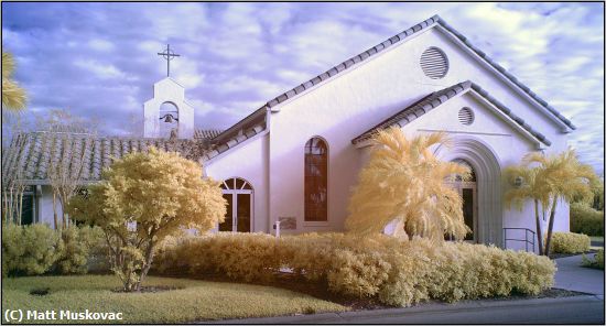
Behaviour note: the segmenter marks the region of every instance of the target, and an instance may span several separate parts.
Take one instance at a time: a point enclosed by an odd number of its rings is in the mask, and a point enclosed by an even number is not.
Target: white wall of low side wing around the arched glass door
[[[224,181],[231,177],[246,180],[253,188],[253,232],[269,232],[268,213],[268,141],[269,135],[258,134],[236,148],[205,162],[205,174]]]

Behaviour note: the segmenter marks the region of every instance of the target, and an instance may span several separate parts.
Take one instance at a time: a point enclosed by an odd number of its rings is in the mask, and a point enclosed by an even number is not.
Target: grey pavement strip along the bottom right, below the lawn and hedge
[[[218,324],[604,324],[592,296],[431,303],[409,308],[217,320]]]

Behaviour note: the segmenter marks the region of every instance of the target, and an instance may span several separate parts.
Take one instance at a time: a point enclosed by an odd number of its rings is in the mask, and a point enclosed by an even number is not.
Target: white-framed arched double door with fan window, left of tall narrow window
[[[221,184],[227,211],[219,231],[250,232],[252,225],[252,186],[244,178],[232,177]]]

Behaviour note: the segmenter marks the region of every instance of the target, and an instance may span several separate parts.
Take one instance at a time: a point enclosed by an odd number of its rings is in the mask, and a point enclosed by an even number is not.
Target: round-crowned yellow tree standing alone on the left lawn
[[[68,206],[75,218],[105,231],[112,270],[127,292],[140,290],[166,236],[207,231],[223,221],[225,207],[219,183],[203,177],[198,163],[154,148],[117,160],[101,183]]]

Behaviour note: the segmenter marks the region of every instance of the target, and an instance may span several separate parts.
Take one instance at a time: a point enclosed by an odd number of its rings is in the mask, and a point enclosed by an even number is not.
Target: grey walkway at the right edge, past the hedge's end
[[[581,267],[583,256],[572,256],[555,260],[555,285],[553,287],[578,291],[604,298],[604,271]],[[593,254],[587,254],[593,258]]]

